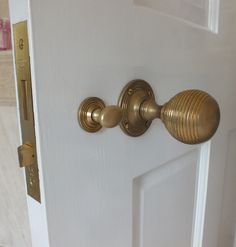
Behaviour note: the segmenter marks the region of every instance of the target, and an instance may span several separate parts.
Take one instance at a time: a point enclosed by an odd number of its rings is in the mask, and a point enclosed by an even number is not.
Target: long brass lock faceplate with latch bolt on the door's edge
[[[23,142],[23,145],[18,148],[19,160],[20,166],[25,167],[28,195],[38,202],[41,202],[27,21],[14,24],[13,33],[21,134]]]

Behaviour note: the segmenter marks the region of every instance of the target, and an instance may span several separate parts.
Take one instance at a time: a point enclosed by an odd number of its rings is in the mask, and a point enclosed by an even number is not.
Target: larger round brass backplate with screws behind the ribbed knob
[[[144,120],[140,115],[140,108],[144,101],[155,100],[151,86],[143,80],[133,80],[122,90],[119,97],[119,107],[123,111],[120,123],[125,134],[133,137],[144,134],[152,121]]]

